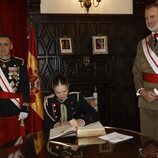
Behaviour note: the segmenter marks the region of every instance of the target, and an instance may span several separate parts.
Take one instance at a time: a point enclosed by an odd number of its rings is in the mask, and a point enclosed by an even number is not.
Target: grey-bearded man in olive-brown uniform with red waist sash
[[[138,43],[133,74],[141,132],[158,141],[158,3],[146,7],[145,22],[151,34]]]

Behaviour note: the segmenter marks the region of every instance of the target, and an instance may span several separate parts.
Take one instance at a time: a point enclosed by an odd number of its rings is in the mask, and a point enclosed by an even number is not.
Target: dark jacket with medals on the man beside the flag
[[[29,103],[29,79],[24,60],[18,57],[10,57],[4,61],[0,59],[0,67],[14,92],[22,93],[23,102]],[[1,87],[0,91],[3,92]],[[20,111],[10,99],[4,99],[0,96],[0,117],[18,115]]]

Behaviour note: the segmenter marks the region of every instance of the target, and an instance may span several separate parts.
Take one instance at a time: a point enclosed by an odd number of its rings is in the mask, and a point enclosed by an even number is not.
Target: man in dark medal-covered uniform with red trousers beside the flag
[[[29,112],[27,69],[23,59],[11,56],[12,48],[11,38],[0,35],[0,144],[22,134]]]

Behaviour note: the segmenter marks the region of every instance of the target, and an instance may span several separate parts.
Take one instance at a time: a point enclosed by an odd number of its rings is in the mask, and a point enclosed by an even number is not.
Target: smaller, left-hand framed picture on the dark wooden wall
[[[69,37],[59,38],[60,43],[60,54],[72,54],[72,42]]]

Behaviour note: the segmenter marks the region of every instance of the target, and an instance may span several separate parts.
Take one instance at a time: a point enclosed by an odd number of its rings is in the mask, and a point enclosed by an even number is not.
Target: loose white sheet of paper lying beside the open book
[[[117,133],[117,132],[112,132],[109,134],[106,134],[104,136],[100,136],[99,138],[103,139],[103,140],[107,140],[111,143],[118,143],[118,142],[122,142],[128,139],[133,138],[133,136],[129,136],[129,135],[125,135],[125,134],[121,134],[121,133]]]

